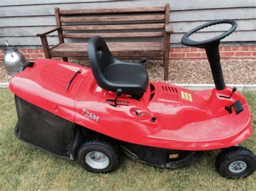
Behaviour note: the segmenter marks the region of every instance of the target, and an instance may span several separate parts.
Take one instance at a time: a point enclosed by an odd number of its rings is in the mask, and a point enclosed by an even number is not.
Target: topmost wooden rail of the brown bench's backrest
[[[60,15],[90,15],[104,13],[129,13],[129,12],[164,12],[163,6],[149,8],[123,8],[123,9],[75,9],[75,10],[59,10]]]

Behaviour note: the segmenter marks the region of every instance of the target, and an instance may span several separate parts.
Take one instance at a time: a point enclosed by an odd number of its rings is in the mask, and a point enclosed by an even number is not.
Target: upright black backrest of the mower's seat
[[[91,37],[88,42],[88,55],[95,80],[100,87],[106,87],[107,81],[104,77],[104,71],[116,59],[110,53],[105,40],[99,36]]]

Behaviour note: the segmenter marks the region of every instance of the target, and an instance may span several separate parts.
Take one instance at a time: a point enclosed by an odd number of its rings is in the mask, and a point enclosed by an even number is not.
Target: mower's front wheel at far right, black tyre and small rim
[[[217,171],[227,179],[240,179],[254,173],[256,158],[252,151],[242,146],[233,146],[221,151],[215,161]]]

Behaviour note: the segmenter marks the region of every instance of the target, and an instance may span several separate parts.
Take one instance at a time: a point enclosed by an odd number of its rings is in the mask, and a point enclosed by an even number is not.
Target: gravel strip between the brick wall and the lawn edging
[[[125,60],[136,61],[136,60]],[[89,66],[89,61],[75,61],[83,66]],[[149,72],[150,80],[164,81],[163,61],[148,60],[144,66]],[[224,79],[227,84],[255,84],[256,60],[222,60]],[[3,63],[0,65],[0,82],[8,82]],[[171,83],[213,83],[210,65],[206,60],[186,61],[171,60],[169,66],[169,81]]]

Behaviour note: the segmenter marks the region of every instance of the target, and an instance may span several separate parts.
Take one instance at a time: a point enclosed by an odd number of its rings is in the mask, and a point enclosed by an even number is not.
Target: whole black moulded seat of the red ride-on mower
[[[110,53],[103,38],[91,37],[88,43],[88,54],[93,76],[99,87],[123,93],[142,96],[149,84],[146,68],[140,63],[117,60]]]

